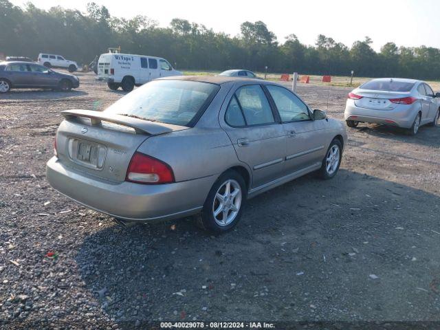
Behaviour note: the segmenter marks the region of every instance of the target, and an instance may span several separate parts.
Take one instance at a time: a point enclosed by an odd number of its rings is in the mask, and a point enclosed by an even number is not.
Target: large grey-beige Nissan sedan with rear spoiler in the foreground
[[[245,201],[318,171],[336,175],[347,134],[276,83],[224,76],[153,80],[106,110],[67,110],[47,179],[126,221],[195,215],[214,232]]]

